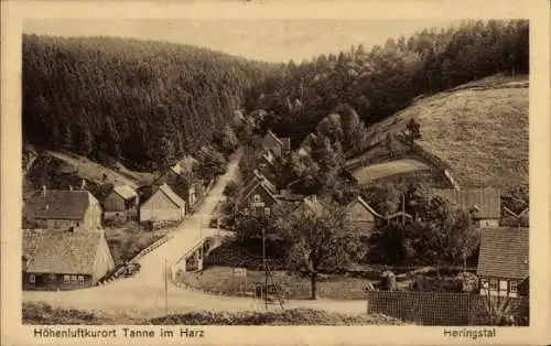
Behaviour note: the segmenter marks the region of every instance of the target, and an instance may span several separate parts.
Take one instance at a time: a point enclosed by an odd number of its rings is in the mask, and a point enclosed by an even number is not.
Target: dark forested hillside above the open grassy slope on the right
[[[382,46],[353,46],[338,55],[289,62],[287,68],[253,88],[247,109],[263,109],[263,126],[296,145],[321,119],[348,104],[374,125],[431,95],[494,74],[529,69],[528,21],[465,21],[447,30],[422,30],[389,39]],[[355,142],[346,152],[361,152]]]

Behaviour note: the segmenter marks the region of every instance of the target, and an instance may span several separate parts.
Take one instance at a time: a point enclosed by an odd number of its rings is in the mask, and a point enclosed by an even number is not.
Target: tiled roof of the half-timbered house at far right
[[[478,275],[509,279],[529,275],[528,228],[485,228],[480,233]]]

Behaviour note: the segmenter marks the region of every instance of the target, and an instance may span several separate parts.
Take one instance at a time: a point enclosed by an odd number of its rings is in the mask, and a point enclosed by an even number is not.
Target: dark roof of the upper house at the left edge
[[[29,218],[82,219],[88,207],[98,201],[86,190],[46,190],[36,192],[25,203]]]

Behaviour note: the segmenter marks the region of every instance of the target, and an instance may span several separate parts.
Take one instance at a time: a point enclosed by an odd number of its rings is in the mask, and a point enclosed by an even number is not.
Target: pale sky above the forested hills
[[[62,36],[122,36],[192,44],[267,62],[311,60],[352,45],[385,44],[423,28],[447,28],[452,20],[26,20],[24,33]]]

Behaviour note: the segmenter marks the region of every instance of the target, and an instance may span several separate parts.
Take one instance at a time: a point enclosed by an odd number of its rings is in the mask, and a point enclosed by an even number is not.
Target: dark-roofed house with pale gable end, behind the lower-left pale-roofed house
[[[101,206],[86,190],[46,190],[32,195],[23,208],[26,228],[101,228]]]

